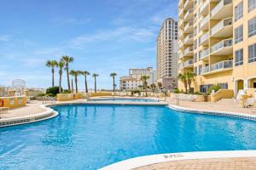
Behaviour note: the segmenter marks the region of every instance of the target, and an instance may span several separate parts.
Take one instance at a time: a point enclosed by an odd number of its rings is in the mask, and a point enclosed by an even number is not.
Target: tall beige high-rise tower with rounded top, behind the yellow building
[[[157,82],[163,88],[176,88],[177,83],[177,21],[164,21],[157,37]]]

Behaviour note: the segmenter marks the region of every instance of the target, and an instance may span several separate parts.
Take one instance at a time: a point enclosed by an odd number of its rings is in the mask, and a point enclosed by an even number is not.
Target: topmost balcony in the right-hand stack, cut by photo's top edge
[[[214,8],[212,8],[212,20],[222,20],[231,17],[233,14],[232,0],[221,0]]]

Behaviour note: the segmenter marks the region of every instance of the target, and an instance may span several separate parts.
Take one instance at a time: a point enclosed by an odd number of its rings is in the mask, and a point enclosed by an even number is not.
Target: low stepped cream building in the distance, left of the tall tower
[[[141,77],[148,76],[148,86],[156,82],[156,71],[152,67],[145,69],[129,69],[129,77],[120,77],[120,90],[137,89],[143,85]]]

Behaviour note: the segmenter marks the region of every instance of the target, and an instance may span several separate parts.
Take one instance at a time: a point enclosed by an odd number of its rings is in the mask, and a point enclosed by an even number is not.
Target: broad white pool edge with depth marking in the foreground
[[[218,159],[218,158],[238,158],[238,157],[254,157],[256,150],[224,150],[224,151],[195,151],[167,153],[152,156],[139,156],[125,161],[119,161],[102,167],[100,170],[130,170],[138,167],[144,167],[156,163],[166,161],[185,161],[198,159]]]

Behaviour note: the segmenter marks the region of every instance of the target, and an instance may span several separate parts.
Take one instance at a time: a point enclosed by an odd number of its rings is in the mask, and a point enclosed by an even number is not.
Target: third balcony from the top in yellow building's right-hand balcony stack
[[[225,39],[212,45],[212,55],[228,55],[233,53],[233,39]]]

